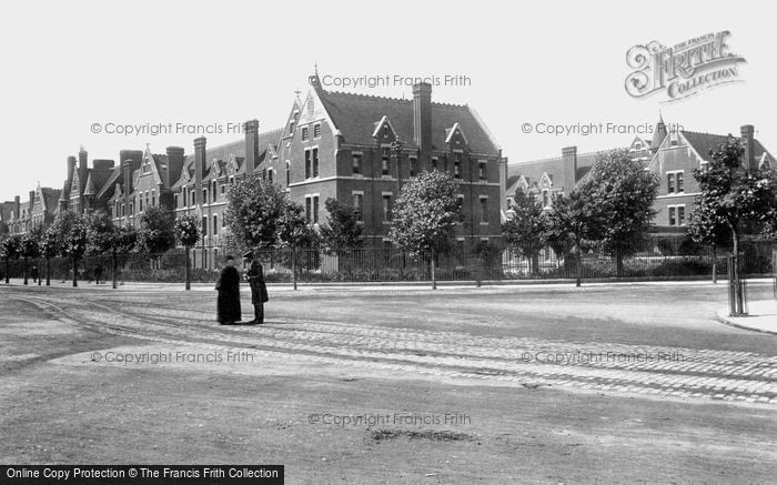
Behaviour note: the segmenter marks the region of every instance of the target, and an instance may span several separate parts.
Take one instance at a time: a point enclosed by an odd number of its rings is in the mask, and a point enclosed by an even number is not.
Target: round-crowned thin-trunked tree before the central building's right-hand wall
[[[434,170],[402,186],[392,210],[391,239],[411,256],[428,253],[432,287],[437,287],[435,257],[450,247],[458,220],[458,183]]]

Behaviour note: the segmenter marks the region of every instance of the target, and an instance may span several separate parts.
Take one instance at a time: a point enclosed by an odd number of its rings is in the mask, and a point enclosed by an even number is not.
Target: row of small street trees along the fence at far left
[[[9,263],[22,261],[24,284],[28,284],[28,264],[32,260],[46,260],[46,284],[51,284],[51,260],[65,257],[72,263],[72,282],[78,286],[79,262],[84,256],[110,255],[113,287],[121,260],[130,253],[158,255],[175,243],[194,245],[199,239],[198,221],[183,216],[173,221],[172,215],[159,208],[147,210],[138,229],[117,226],[108,213],[89,211],[78,214],[60,212],[48,226],[36,226],[24,234],[0,235],[0,256],[6,264],[6,283],[9,282]]]

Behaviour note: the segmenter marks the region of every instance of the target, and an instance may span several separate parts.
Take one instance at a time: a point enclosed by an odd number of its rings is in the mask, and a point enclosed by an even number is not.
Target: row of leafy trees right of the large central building
[[[777,181],[769,168],[746,170],[739,139],[730,138],[709,155],[709,163],[694,171],[699,194],[688,233],[695,242],[714,249],[731,246],[738,281],[743,234],[777,236]],[[657,176],[628,152],[602,152],[583,182],[554,198],[549,211],[544,211],[534,194],[518,190],[515,216],[503,231],[507,242],[529,261],[532,271],[536,271],[539,251],[549,246],[557,254],[573,256],[579,285],[581,254],[595,249],[612,255],[622,275],[623,259],[640,247],[649,233],[658,186]],[[741,300],[740,290],[738,293]]]

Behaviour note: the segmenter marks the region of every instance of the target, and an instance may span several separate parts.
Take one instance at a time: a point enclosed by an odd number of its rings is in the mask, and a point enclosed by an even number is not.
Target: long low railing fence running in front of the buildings
[[[777,251],[771,241],[745,241],[741,244],[744,275],[777,273]],[[200,254],[203,250],[198,249]],[[473,246],[454,246],[435,254],[435,276],[438,281],[482,280],[555,280],[575,279],[579,257],[579,276],[583,280],[607,277],[663,279],[679,276],[725,276],[728,249],[699,247],[683,240],[653,240],[622,257],[622,264],[609,254],[584,251],[575,254],[556,254],[549,249],[535,253],[502,244],[501,241]],[[195,253],[196,254],[196,253]],[[225,254],[212,251],[211,254]],[[212,256],[216,260],[215,256]],[[413,282],[430,281],[432,254],[411,256],[392,247],[364,247],[359,250],[299,250],[260,251],[268,282],[292,282],[294,273],[299,282]],[[198,267],[192,263],[192,282],[215,282],[223,256],[214,267]],[[183,282],[185,280],[185,253],[182,249],[164,254],[130,254],[119,257],[117,279],[123,282]],[[240,265],[240,263],[239,263]],[[774,266],[773,266],[774,265]],[[32,267],[46,279],[44,260],[28,261],[27,273]],[[113,261],[110,256],[88,256],[78,262],[81,281],[111,281]],[[72,262],[64,259],[49,261],[53,281],[72,280]],[[295,271],[292,271],[295,269]],[[0,275],[4,276],[4,264]],[[23,262],[11,261],[9,275],[21,277]],[[777,282],[776,292],[777,292]],[[777,294],[777,293],[776,293]]]

